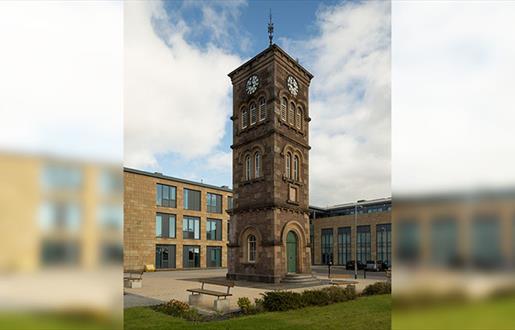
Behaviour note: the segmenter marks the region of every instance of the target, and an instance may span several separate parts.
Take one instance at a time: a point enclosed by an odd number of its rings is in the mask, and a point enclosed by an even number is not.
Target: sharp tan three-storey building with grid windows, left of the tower
[[[125,168],[124,268],[227,267],[232,191]]]

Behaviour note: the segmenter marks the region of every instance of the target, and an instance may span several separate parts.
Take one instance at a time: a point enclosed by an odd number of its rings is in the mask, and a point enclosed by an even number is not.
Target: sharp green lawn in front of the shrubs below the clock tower
[[[261,313],[223,321],[193,323],[148,307],[125,310],[124,329],[390,329],[391,296],[361,297],[323,307]]]

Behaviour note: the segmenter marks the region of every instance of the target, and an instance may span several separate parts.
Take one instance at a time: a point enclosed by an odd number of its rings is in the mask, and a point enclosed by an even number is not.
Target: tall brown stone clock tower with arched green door
[[[234,205],[227,277],[273,283],[308,278],[313,75],[271,43],[229,77]]]

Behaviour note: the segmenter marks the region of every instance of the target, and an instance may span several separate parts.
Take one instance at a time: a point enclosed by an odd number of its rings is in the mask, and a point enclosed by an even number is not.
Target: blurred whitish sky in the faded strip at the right
[[[515,184],[515,3],[393,5],[395,193]]]

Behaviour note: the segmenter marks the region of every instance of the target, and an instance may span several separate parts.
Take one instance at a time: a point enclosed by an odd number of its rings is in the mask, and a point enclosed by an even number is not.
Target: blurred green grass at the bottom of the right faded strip
[[[515,297],[407,310],[394,308],[392,329],[515,329]]]

